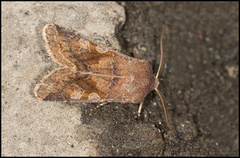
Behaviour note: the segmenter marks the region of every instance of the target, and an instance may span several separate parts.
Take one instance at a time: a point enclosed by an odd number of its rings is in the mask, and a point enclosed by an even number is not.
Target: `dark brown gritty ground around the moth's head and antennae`
[[[82,106],[82,120],[92,131],[88,139],[99,142],[99,155],[238,156],[238,2],[118,3],[126,11],[116,30],[121,53],[149,61],[154,74],[164,26],[158,88],[176,137],[154,91],[140,118],[136,104],[108,103],[91,113],[96,105],[89,104]]]

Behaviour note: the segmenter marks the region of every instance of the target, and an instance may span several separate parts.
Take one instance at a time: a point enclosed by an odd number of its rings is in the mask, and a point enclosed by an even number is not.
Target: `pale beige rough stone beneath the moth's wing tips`
[[[124,21],[124,9],[115,2],[2,2],[3,156],[98,155],[96,138],[83,139],[89,129],[80,121],[81,104],[44,102],[33,94],[36,83],[58,66],[46,53],[42,28],[56,23],[118,43],[114,33]]]

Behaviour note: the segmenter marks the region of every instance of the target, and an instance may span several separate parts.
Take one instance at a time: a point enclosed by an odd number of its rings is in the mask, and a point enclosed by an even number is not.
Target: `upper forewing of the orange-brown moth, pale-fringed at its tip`
[[[88,65],[98,64],[101,58],[114,57],[107,47],[54,24],[44,27],[43,38],[55,62],[78,71],[88,70]]]

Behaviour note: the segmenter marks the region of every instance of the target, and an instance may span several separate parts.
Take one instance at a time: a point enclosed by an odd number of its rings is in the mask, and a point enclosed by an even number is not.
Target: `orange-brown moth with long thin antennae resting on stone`
[[[50,101],[140,103],[140,116],[144,98],[155,90],[171,130],[164,97],[157,89],[163,61],[162,35],[161,60],[155,76],[146,60],[129,57],[83,35],[47,24],[43,28],[46,50],[61,67],[43,77],[34,94],[40,100]]]

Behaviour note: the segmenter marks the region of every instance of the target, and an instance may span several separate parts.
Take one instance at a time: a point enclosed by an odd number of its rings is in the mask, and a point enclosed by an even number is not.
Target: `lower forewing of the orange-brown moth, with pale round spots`
[[[34,93],[40,100],[105,101],[107,93],[97,88],[96,84],[90,75],[58,68],[42,79]]]

